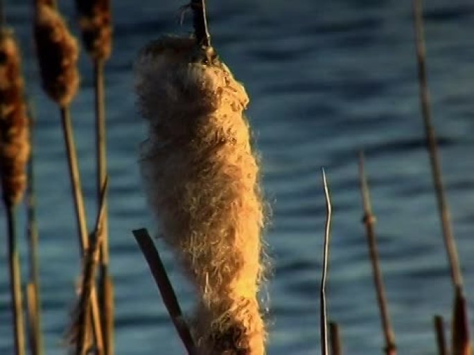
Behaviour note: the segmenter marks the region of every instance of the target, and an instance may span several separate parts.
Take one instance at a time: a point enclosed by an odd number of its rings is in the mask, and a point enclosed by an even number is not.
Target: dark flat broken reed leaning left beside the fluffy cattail
[[[179,303],[175,295],[175,291],[173,291],[173,286],[171,286],[171,282],[168,279],[168,275],[166,274],[166,270],[163,263],[161,262],[161,257],[159,256],[155,244],[148,234],[148,231],[144,228],[133,230],[133,235],[135,239],[137,239],[137,243],[140,246],[141,252],[145,257],[146,262],[148,262],[148,266],[150,267],[150,271],[158,286],[161,298],[163,299],[170,318],[173,321],[173,325],[175,325],[175,329],[179,335],[179,338],[181,338],[183,345],[186,347],[189,355],[196,354],[191,331],[184,320],[181,307],[179,307]]]

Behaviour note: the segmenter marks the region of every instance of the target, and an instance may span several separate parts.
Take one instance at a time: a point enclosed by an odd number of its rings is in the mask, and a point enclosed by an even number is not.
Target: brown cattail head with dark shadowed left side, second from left
[[[43,88],[60,106],[67,106],[78,91],[79,48],[64,19],[47,3],[37,3],[35,40]]]

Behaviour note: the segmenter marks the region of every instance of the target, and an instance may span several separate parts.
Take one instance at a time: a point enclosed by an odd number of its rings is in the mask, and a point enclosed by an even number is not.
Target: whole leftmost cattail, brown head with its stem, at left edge
[[[15,212],[26,187],[25,167],[30,153],[29,127],[24,103],[21,55],[12,32],[3,27],[0,28],[0,57],[0,177],[8,225],[12,327],[15,355],[24,355],[24,309]]]

